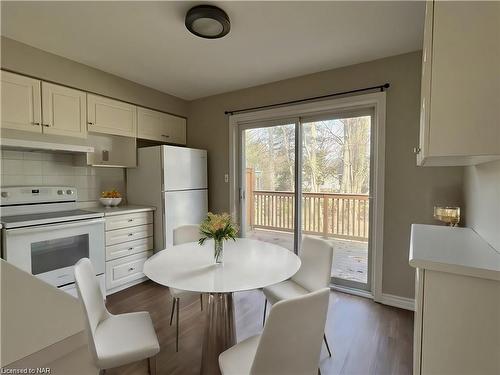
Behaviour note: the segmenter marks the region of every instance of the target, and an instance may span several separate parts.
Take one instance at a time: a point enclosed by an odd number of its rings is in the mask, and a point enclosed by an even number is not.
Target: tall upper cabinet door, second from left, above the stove
[[[42,125],[46,134],[87,136],[87,95],[83,91],[42,82]]]

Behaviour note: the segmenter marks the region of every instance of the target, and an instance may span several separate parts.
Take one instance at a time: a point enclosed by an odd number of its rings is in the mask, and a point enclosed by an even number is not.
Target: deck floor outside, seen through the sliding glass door
[[[255,229],[249,238],[271,242],[293,251],[293,234]],[[322,238],[322,237],[320,237]],[[329,238],[333,247],[332,277],[366,283],[368,280],[368,242]]]

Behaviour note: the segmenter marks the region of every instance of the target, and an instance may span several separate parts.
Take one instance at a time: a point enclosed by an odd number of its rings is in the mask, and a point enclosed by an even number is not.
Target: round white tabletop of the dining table
[[[300,258],[284,247],[237,238],[224,244],[224,263],[214,264],[214,242],[189,242],[162,250],[144,263],[154,282],[202,293],[258,289],[293,276]]]

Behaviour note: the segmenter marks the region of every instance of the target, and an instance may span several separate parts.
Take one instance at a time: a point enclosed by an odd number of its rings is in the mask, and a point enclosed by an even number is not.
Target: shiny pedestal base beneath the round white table
[[[210,293],[201,357],[201,374],[220,374],[219,354],[236,343],[232,293]]]

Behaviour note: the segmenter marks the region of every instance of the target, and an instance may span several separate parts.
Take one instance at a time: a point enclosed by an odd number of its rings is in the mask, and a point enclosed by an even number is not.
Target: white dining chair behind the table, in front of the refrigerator
[[[187,242],[197,242],[200,235],[199,225],[182,225],[174,229],[174,246],[181,245]],[[200,306],[203,311],[203,294],[198,292],[191,292],[187,290],[181,290],[176,288],[169,288],[170,295],[172,296],[172,311],[170,312],[170,325],[172,325],[172,320],[174,318],[175,310],[175,351],[179,351],[179,304],[181,297],[189,297],[199,294],[200,295]]]

